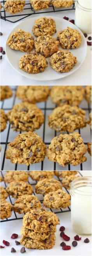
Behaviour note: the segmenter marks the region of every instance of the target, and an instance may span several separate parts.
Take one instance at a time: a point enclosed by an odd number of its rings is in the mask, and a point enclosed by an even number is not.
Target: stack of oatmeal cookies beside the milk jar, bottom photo
[[[55,213],[43,207],[32,209],[23,217],[20,243],[29,249],[51,249],[55,245],[58,224],[59,219]]]

